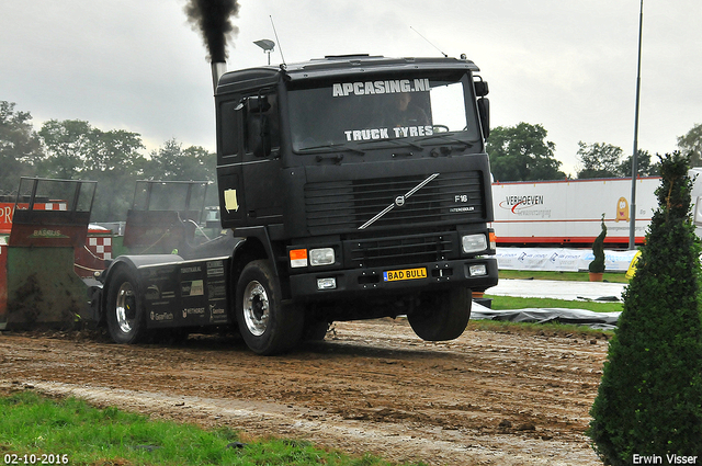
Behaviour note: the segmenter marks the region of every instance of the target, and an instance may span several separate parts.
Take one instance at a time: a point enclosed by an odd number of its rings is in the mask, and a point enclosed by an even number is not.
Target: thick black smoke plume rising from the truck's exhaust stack
[[[185,5],[188,20],[202,32],[210,61],[227,59],[227,39],[239,32],[230,18],[238,13],[237,0],[190,0]]]

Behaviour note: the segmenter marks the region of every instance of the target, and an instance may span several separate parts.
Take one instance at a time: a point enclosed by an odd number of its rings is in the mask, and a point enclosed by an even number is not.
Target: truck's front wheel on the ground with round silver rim
[[[304,311],[283,303],[270,261],[258,260],[244,268],[235,299],[239,332],[251,351],[268,356],[290,351],[299,343]]]

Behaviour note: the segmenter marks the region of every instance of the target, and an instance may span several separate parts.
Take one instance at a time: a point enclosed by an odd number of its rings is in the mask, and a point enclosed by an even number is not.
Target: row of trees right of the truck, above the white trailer
[[[490,129],[487,154],[496,181],[558,180],[568,175],[561,171],[561,161],[554,157],[556,145],[546,139],[542,125],[519,123]],[[678,149],[691,156],[692,166],[702,164],[702,124],[695,125],[684,136],[678,137]],[[637,174],[657,175],[659,163],[652,160],[647,150],[637,151]],[[580,162],[576,177],[620,178],[632,175],[632,156],[624,157],[621,147],[607,143],[578,143]]]

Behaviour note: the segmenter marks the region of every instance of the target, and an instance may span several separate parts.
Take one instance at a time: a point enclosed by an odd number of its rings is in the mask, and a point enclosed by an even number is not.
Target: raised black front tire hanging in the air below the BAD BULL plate
[[[407,316],[417,337],[427,341],[454,340],[471,319],[472,293],[468,288],[453,288],[427,293],[418,309]]]

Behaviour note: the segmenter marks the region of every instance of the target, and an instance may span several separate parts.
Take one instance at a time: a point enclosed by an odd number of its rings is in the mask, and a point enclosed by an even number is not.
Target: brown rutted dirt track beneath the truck
[[[607,340],[472,330],[427,343],[404,320],[335,325],[279,357],[224,338],[125,346],[0,337],[0,386],[446,465],[600,465],[584,431]]]

